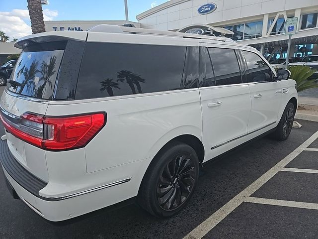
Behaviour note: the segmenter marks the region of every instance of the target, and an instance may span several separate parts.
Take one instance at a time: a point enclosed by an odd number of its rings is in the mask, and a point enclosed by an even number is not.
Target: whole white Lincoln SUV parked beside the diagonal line
[[[62,221],[135,198],[180,211],[199,164],[258,136],[285,140],[294,80],[231,39],[101,25],[23,37],[1,97],[8,187]]]

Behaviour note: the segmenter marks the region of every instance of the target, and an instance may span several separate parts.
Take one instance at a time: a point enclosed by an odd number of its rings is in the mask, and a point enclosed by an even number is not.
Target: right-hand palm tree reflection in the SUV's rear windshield
[[[40,81],[43,81],[42,85],[39,86],[37,89],[36,96],[42,98],[45,90],[46,90],[46,85],[49,84],[49,86],[52,88],[52,82],[50,78],[54,75],[56,72],[55,69],[55,64],[56,64],[56,56],[51,56],[50,57],[50,62],[49,64],[46,63],[45,61],[42,61],[41,64],[41,70],[40,73],[42,77],[40,78]],[[43,91],[44,90],[44,91]]]

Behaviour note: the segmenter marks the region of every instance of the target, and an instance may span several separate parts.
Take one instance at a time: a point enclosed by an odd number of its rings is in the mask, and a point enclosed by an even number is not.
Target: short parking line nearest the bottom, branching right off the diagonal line
[[[245,199],[244,202],[268,204],[268,205],[292,207],[292,208],[306,208],[306,209],[318,210],[318,204],[317,203],[304,203],[304,202],[277,200],[277,199],[269,199],[269,198],[254,198],[254,197],[248,197],[248,198]]]

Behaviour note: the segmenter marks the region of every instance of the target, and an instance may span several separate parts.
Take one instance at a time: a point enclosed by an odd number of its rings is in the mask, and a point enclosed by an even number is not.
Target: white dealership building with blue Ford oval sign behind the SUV
[[[265,57],[286,57],[285,21],[297,17],[291,57],[318,54],[318,0],[169,0],[136,16],[136,27],[231,37]],[[46,31],[87,30],[125,21],[45,21]]]

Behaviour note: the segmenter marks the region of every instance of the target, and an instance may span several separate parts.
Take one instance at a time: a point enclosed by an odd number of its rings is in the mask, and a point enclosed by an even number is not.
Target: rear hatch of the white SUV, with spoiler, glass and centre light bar
[[[49,101],[56,99],[56,95],[72,100],[69,86],[76,85],[78,70],[74,70],[73,76],[68,73],[72,71],[69,67],[75,63],[79,68],[80,59],[74,62],[71,59],[81,57],[87,35],[86,32],[51,34],[35,34],[15,44],[23,51],[0,101],[10,152],[25,169],[45,182],[49,181],[49,175],[45,150],[39,144],[39,138],[45,137],[41,117],[45,116]],[[63,69],[62,65],[65,65]],[[67,74],[69,81],[61,81]]]

